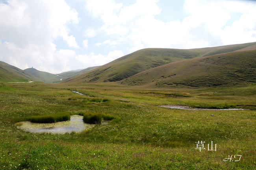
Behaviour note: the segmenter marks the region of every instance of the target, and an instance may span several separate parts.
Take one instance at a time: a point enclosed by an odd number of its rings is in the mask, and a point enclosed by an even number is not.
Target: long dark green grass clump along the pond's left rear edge
[[[60,115],[42,115],[32,116],[29,118],[32,123],[55,123],[70,120],[69,113],[63,113]]]

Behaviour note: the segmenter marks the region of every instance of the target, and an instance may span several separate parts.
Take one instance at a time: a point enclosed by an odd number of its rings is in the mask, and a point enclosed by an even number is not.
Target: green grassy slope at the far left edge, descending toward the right
[[[28,82],[40,81],[40,79],[32,76],[17,67],[0,61],[0,82]]]

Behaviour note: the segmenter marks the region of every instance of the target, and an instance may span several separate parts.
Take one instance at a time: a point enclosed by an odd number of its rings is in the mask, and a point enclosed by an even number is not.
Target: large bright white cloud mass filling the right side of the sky
[[[90,31],[111,36],[106,41],[128,42],[130,52],[141,48],[201,48],[256,41],[255,3],[230,0],[186,0],[184,11],[190,16],[182,21],[168,23],[155,19],[161,12],[158,0],[137,0],[131,6],[122,6],[108,0],[103,9],[95,0],[86,0],[87,10],[100,18],[103,25]],[[232,26],[226,26],[232,12],[244,15]],[[224,29],[223,29],[224,28]]]

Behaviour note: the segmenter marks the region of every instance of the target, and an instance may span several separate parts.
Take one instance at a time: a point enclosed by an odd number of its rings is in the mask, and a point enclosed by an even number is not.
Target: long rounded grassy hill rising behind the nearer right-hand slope
[[[116,59],[115,61],[98,67],[97,69],[86,72],[74,78],[70,78],[66,82],[95,83],[121,81],[150,68],[158,67],[175,61],[233,52],[255,44],[256,42],[190,50],[147,48],[125,55],[119,59]]]

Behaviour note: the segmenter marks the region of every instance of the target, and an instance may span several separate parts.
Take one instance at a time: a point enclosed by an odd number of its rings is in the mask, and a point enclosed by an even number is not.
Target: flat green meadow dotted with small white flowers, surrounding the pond
[[[1,83],[0,169],[256,169],[255,87],[253,83],[171,89],[114,83]],[[159,105],[248,110],[185,110]],[[63,113],[99,113],[106,118],[80,133],[19,129],[19,122],[32,116]],[[199,147],[198,141],[204,146]]]

